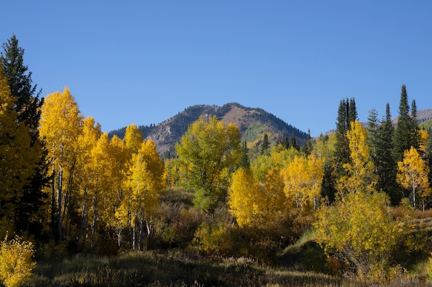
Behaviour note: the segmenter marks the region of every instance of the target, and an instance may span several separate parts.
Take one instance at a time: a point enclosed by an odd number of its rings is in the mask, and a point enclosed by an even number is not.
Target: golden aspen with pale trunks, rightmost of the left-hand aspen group
[[[130,191],[129,198],[124,198],[121,204],[127,204],[126,214],[130,216],[132,227],[132,248],[137,246],[140,249],[144,228],[147,237],[152,234],[153,215],[159,206],[159,191],[165,187],[164,164],[153,141],[146,140],[138,153],[133,154],[126,184]]]

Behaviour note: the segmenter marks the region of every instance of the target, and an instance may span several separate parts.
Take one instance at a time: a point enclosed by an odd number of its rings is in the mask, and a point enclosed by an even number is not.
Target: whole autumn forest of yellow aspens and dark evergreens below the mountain
[[[42,97],[23,54],[3,43],[0,286],[431,284],[432,131],[405,85],[396,125],[355,98],[302,145],[202,116],[164,158]]]

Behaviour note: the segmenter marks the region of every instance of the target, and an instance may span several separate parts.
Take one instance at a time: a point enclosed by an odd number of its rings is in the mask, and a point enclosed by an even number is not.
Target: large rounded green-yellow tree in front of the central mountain
[[[238,127],[216,116],[190,125],[175,146],[188,189],[195,191],[195,206],[213,213],[226,195],[230,173],[239,166],[242,147]]]

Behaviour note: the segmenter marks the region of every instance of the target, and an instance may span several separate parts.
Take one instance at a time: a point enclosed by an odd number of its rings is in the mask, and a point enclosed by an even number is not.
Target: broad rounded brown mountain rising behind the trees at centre
[[[238,103],[227,103],[222,107],[216,105],[193,105],[179,112],[177,115],[164,120],[158,125],[139,126],[144,138],[153,140],[157,146],[157,151],[164,153],[173,152],[175,143],[179,142],[189,125],[198,120],[199,116],[217,116],[226,125],[233,123],[239,127],[242,139],[247,142],[259,143],[264,132],[271,134],[271,140],[275,141],[280,138],[291,138],[294,134],[300,143],[304,142],[307,134],[273,114],[260,108],[244,107]],[[110,131],[109,135],[117,135],[123,138],[126,127]]]

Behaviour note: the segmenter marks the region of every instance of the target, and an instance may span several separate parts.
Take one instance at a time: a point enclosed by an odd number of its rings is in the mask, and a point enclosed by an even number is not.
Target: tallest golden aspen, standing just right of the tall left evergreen
[[[41,108],[39,133],[46,142],[51,165],[51,223],[57,224],[59,240],[63,237],[63,225],[67,226],[70,219],[70,199],[82,120],[78,104],[67,87],[63,92],[46,96]]]

